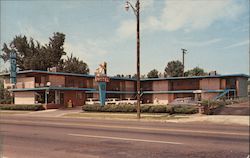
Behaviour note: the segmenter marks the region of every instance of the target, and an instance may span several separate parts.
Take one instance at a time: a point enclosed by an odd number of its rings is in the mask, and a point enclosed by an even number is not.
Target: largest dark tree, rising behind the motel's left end
[[[4,43],[0,55],[5,62],[9,60],[11,48],[13,45],[17,53],[17,67],[19,70],[47,70],[47,68],[57,66],[64,52],[63,44],[65,35],[63,33],[54,33],[49,38],[49,44],[42,46],[40,42],[33,38],[27,39],[26,36],[15,36],[9,46]]]

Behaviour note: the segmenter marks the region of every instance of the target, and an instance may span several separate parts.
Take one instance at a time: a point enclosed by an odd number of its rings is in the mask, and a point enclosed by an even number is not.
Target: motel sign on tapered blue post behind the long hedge
[[[107,76],[107,63],[104,62],[103,64],[99,65],[99,68],[96,69],[95,73],[95,81],[98,82],[99,88],[99,100],[100,105],[105,105],[106,100],[106,85],[109,82],[109,77]]]

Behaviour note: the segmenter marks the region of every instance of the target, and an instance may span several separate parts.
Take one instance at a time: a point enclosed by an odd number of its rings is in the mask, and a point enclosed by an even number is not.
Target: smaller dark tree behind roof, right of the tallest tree
[[[59,64],[59,71],[89,74],[89,67],[85,62],[79,60],[79,58],[73,57],[73,55],[71,54],[71,56],[67,57],[66,60],[61,61],[61,63]]]

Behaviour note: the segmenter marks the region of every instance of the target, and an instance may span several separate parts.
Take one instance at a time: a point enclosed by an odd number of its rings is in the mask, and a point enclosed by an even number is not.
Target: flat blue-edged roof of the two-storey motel
[[[79,77],[89,77],[94,78],[95,75],[87,75],[87,74],[78,74],[78,73],[65,73],[65,72],[50,72],[50,71],[42,71],[42,70],[25,70],[25,71],[18,71],[17,74],[27,74],[27,73],[34,73],[34,74],[51,74],[51,75],[64,75],[64,76],[79,76]],[[0,76],[7,76],[9,73],[0,74]],[[141,79],[141,81],[162,81],[162,80],[181,80],[181,79],[201,79],[201,78],[223,78],[223,77],[245,77],[249,78],[249,75],[246,74],[226,74],[226,75],[212,75],[212,76],[190,76],[190,77],[167,77],[167,78],[146,78]],[[135,78],[128,78],[128,77],[112,77],[111,79],[114,80],[129,80],[129,81],[136,81]]]

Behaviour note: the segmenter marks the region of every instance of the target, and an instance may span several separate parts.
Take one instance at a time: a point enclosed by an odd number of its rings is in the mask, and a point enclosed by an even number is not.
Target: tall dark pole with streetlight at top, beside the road
[[[140,96],[141,96],[141,84],[140,84],[140,2],[139,0],[136,1],[135,7],[127,1],[125,4],[125,9],[128,11],[129,7],[131,7],[134,11],[137,20],[137,118],[141,118],[141,105],[140,105]]]

